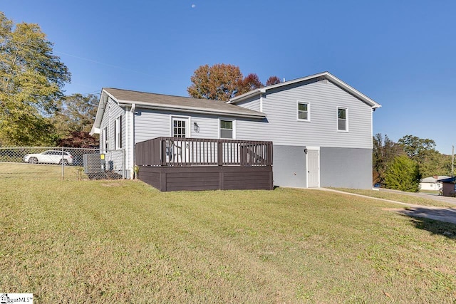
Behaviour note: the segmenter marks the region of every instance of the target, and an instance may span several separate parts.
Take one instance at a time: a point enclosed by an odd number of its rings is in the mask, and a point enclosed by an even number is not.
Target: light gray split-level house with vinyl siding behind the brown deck
[[[228,103],[103,88],[91,134],[100,134],[101,150],[125,150],[125,160],[111,160],[111,169],[125,165],[130,176],[139,142],[229,139],[272,142],[276,186],[371,189],[376,108],[328,72],[252,90]]]

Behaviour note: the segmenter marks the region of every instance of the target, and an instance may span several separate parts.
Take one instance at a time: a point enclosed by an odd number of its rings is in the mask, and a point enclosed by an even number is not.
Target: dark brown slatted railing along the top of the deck
[[[272,142],[157,137],[135,145],[138,166],[271,166]]]

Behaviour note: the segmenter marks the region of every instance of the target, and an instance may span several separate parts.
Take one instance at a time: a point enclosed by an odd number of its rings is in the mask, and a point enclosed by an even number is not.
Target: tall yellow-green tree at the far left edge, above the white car
[[[37,24],[19,23],[0,12],[0,141],[3,145],[49,142],[49,115],[71,74]]]

